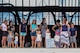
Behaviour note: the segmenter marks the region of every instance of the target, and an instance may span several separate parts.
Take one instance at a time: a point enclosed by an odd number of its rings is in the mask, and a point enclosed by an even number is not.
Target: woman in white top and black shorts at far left
[[[4,21],[4,23],[2,23],[1,25],[2,27],[2,47],[5,48],[6,47],[6,41],[7,41],[7,20]]]

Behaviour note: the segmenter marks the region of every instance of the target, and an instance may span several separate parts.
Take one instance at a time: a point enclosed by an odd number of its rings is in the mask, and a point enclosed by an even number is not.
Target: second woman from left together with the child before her
[[[9,45],[12,45],[12,47],[14,47],[14,32],[15,32],[15,27],[13,26],[12,21],[10,21],[8,26],[8,47]]]

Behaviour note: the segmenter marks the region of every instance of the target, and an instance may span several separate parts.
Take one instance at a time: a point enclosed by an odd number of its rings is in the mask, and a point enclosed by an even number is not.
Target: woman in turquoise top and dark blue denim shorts
[[[32,21],[32,25],[30,26],[30,30],[31,30],[31,40],[32,40],[32,48],[36,47],[36,29],[37,29],[37,25],[36,25],[36,20]]]

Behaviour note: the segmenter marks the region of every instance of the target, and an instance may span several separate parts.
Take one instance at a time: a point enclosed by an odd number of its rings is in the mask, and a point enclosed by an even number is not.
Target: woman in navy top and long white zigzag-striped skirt
[[[61,26],[61,46],[68,47],[69,46],[69,25],[67,23],[67,19],[63,19],[63,24]]]

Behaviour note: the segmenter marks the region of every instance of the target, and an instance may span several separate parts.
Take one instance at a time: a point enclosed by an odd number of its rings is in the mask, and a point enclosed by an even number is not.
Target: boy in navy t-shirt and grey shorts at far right
[[[74,27],[74,24],[71,24],[71,28],[70,28],[70,42],[71,42],[71,47],[72,48],[77,48],[77,43],[76,43],[76,37],[77,37],[77,30]],[[75,46],[73,46],[75,44]]]

